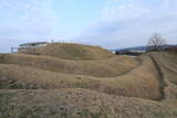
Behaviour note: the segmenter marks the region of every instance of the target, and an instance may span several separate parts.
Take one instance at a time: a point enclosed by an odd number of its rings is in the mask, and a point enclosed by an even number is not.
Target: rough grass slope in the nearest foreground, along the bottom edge
[[[0,116],[15,118],[176,118],[168,105],[87,89],[0,90]]]

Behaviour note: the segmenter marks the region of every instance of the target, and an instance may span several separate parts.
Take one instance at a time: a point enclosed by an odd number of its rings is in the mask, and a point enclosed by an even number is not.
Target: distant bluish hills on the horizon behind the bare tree
[[[167,49],[167,47],[173,47],[173,46],[177,46],[177,45],[163,45],[162,49]],[[136,47],[126,47],[126,49],[116,49],[116,50],[112,50],[112,51],[147,51],[148,46],[136,46]]]

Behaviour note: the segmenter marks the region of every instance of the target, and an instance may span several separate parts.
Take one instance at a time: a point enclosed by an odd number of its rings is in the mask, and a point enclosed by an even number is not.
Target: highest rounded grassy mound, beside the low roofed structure
[[[72,43],[52,43],[40,49],[38,54],[64,60],[102,60],[114,56],[101,47]]]

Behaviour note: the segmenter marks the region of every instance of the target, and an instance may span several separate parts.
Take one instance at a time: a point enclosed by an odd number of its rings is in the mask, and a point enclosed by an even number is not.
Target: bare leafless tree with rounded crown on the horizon
[[[163,45],[166,45],[166,40],[158,33],[154,33],[152,37],[148,41],[148,51],[157,51],[163,47]]]

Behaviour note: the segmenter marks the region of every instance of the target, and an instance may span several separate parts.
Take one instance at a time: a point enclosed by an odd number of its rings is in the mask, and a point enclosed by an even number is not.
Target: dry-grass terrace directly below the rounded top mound
[[[136,67],[140,63],[138,58],[127,56],[115,56],[101,61],[70,61],[28,54],[0,54],[0,62],[64,74],[79,74],[97,77],[117,76]]]

